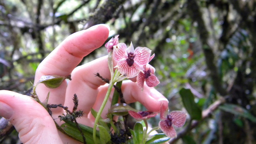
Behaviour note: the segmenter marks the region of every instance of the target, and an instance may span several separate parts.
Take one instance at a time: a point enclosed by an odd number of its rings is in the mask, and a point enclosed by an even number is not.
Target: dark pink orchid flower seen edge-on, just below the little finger
[[[155,117],[158,113],[153,113],[151,111],[128,111],[128,113],[131,115],[131,117],[135,118],[137,121],[149,119],[152,117]]]

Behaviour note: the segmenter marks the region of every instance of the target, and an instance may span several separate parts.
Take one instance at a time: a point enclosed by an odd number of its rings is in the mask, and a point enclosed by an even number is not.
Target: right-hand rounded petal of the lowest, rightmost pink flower
[[[173,119],[171,122],[176,127],[182,127],[186,122],[186,113],[183,111],[171,111],[171,118]]]

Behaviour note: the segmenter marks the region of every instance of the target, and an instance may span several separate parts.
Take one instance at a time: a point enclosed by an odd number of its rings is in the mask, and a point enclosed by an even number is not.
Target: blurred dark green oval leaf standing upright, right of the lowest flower
[[[182,88],[179,91],[181,95],[182,102],[187,112],[190,114],[191,119],[201,120],[202,119],[202,110],[194,101],[194,95],[191,93],[190,89]]]

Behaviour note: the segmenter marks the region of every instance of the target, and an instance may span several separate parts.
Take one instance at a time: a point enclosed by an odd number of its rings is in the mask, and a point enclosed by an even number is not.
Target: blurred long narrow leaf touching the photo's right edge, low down
[[[235,104],[224,104],[219,106],[219,109],[224,110],[226,112],[233,113],[235,115],[239,115],[241,117],[247,118],[252,122],[256,122],[256,117],[254,117],[248,110],[243,107]]]

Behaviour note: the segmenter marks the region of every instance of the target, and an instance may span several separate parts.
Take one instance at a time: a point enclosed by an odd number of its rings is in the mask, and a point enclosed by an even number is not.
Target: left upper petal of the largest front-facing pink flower
[[[116,46],[113,47],[113,58],[115,61],[121,61],[122,58],[128,58],[126,54],[126,44],[125,43],[118,43]]]

